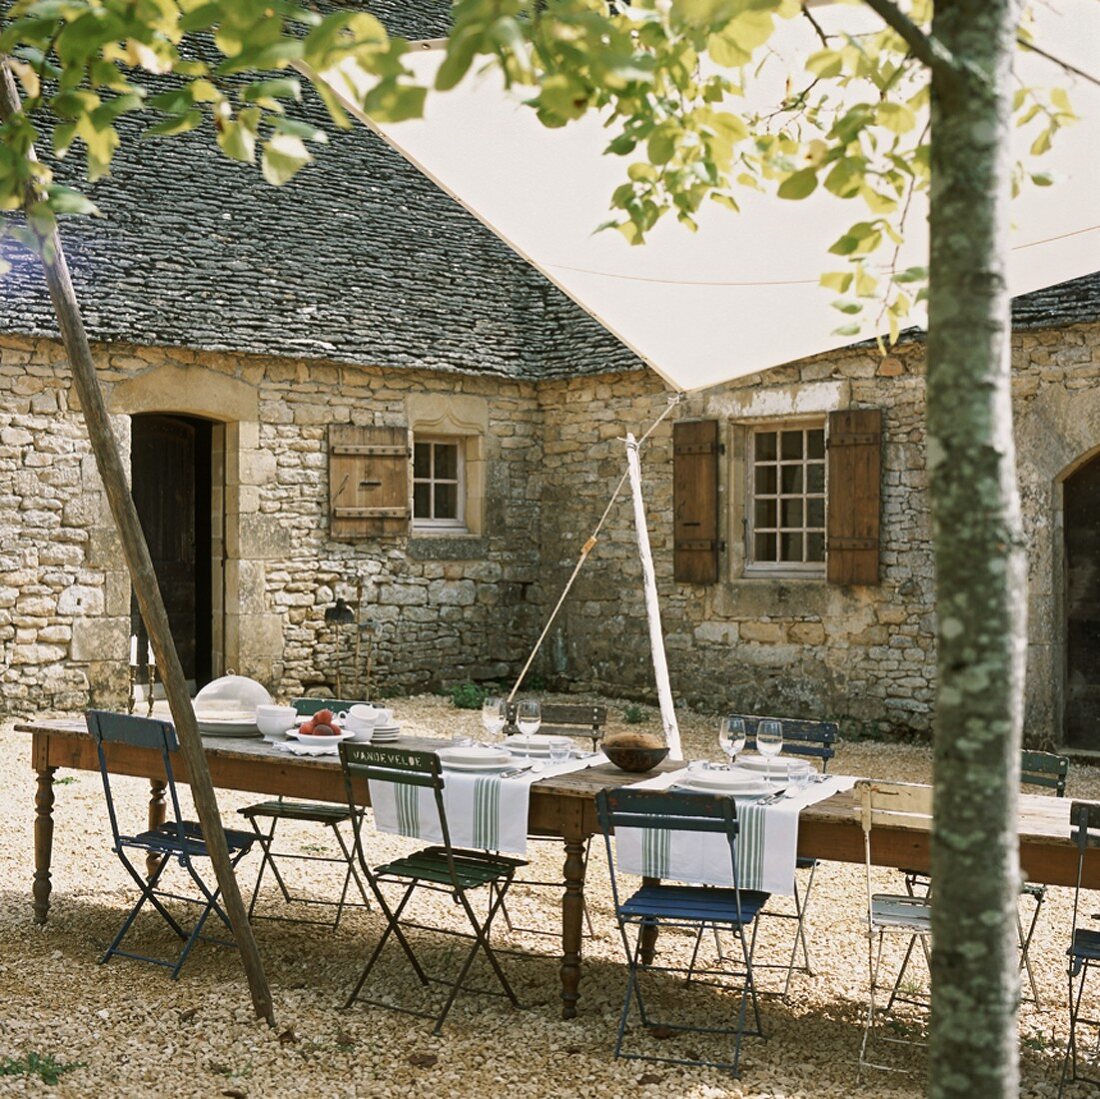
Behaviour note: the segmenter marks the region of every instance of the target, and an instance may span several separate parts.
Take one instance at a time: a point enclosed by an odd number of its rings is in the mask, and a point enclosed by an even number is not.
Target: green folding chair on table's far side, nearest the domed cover
[[[339,713],[341,711],[350,710],[352,706],[359,705],[359,703],[348,699],[295,699],[292,705],[298,712],[299,716],[311,717],[319,710],[331,710]],[[366,890],[363,887],[363,882],[355,869],[355,858],[344,839],[343,833],[340,831],[341,824],[353,820],[352,813],[346,805],[330,805],[323,802],[287,801],[284,798],[278,798],[274,801],[262,801],[256,802],[253,805],[245,805],[244,809],[239,809],[238,813],[245,817],[249,824],[252,825],[252,831],[255,833],[255,837],[260,842],[260,846],[263,850],[263,858],[260,860],[260,871],[256,875],[256,883],[252,887],[252,899],[249,901],[250,920],[278,920],[283,923],[320,924],[323,926],[331,926],[332,930],[336,931],[336,928],[340,926],[340,919],[343,915],[345,906],[371,906],[370,899],[366,895]],[[267,821],[270,823],[266,828],[262,828],[258,821]],[[302,851],[275,850],[275,828],[280,821],[323,824],[332,831],[332,837],[340,854],[316,855]],[[354,824],[352,827],[354,828]],[[293,893],[290,888],[287,886],[286,877],[283,870],[279,869],[277,861],[279,859],[283,861],[294,859],[301,862],[336,862],[343,866],[344,877],[343,884],[340,889],[340,899],[331,901],[324,898],[306,897],[300,893]],[[279,892],[283,894],[283,901],[285,904],[334,905],[334,919],[330,922],[328,920],[311,920],[302,916],[272,915],[266,913],[256,915],[256,901],[260,898],[260,889],[264,881],[264,872],[268,867],[271,867],[272,876],[275,879],[275,883],[278,886]],[[348,891],[353,881],[359,895],[362,898],[360,901],[348,900]]]

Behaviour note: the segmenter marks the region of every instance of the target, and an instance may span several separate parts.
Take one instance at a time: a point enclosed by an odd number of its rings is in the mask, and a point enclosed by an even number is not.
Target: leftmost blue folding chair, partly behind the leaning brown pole
[[[107,798],[107,812],[111,821],[111,835],[113,837],[111,849],[119,856],[119,860],[125,867],[127,873],[133,878],[134,883],[141,890],[141,897],[130,910],[130,914],[125,917],[118,934],[111,941],[111,945],[108,946],[106,953],[99,959],[100,964],[109,961],[114,955],[123,958],[133,958],[138,961],[150,961],[153,965],[165,966],[170,969],[172,977],[175,980],[179,976],[179,970],[183,968],[188,955],[191,953],[191,948],[200,938],[211,943],[219,943],[223,946],[235,945],[231,941],[212,938],[202,934],[202,927],[211,912],[216,913],[227,927],[230,924],[229,917],[218,903],[220,889],[208,887],[195,867],[197,858],[209,857],[206,840],[202,837],[202,829],[194,821],[182,820],[179,812],[179,798],[176,793],[176,780],[172,769],[172,754],[179,747],[179,741],[176,738],[176,729],[170,722],[155,721],[150,717],[134,717],[130,714],[111,714],[98,710],[88,711],[85,719],[88,723],[88,730],[96,738],[96,751],[99,755],[99,771],[103,778],[103,794]],[[174,820],[166,821],[157,828],[139,832],[135,835],[120,832],[118,815],[114,810],[114,799],[111,794],[111,774],[108,770],[107,752],[105,750],[105,745],[110,744],[130,745],[136,748],[152,748],[161,752],[161,758],[164,761],[165,782],[172,799],[172,810],[175,814]],[[237,864],[240,862],[252,847],[253,837],[246,832],[226,828],[226,843],[229,847],[230,865],[235,868]],[[158,857],[160,861],[153,872],[146,878],[128,857],[128,851],[140,851],[142,858],[139,862],[141,865],[144,864],[144,858],[150,855]],[[191,881],[198,890],[198,897],[173,893],[158,888],[162,875],[173,860],[176,860],[190,876]],[[184,930],[183,925],[164,905],[164,899],[200,905],[201,911],[199,912],[198,920],[189,932]],[[184,945],[176,958],[153,958],[144,954],[133,954],[121,949],[122,941],[133,926],[138,913],[141,912],[146,902],[160,913],[172,931],[184,941]]]

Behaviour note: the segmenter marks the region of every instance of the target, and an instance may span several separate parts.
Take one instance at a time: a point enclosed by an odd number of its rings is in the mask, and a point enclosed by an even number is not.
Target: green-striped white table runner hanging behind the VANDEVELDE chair
[[[516,766],[527,760],[517,758]],[[542,779],[606,763],[603,754],[562,763],[540,761],[541,770],[509,779],[497,774],[443,769],[443,809],[455,847],[527,854],[527,816],[531,787]],[[371,780],[374,826],[380,832],[442,843],[435,791],[427,787]]]

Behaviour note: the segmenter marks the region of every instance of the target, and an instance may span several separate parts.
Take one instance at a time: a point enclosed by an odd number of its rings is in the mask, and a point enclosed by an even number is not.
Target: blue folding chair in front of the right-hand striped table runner
[[[754,927],[760,909],[768,900],[768,893],[743,890],[737,876],[737,807],[733,798],[714,794],[667,793],[648,790],[601,790],[596,795],[596,813],[604,833],[607,848],[607,865],[610,870],[612,897],[615,902],[615,919],[623,937],[629,975],[623,1011],[619,1015],[618,1035],[615,1040],[615,1056],[637,1060],[656,1060],[673,1065],[708,1065],[728,1069],[738,1075],[741,1042],[746,1035],[763,1036],[760,1023],[760,1005],[752,981],[752,941],[748,928]],[[641,828],[646,833],[642,843],[660,839],[661,833],[684,831],[724,834],[729,845],[729,865],[733,877],[732,888],[710,886],[680,886],[642,883],[629,898],[619,895],[616,860],[612,853],[610,835],[623,828]],[[641,960],[644,932],[662,927],[685,927],[700,933],[708,926],[722,927],[736,936],[741,947],[743,968],[730,972],[725,969],[695,969],[694,953],[688,966],[654,966]],[[631,945],[627,932],[632,927],[635,941]],[[685,974],[695,976],[740,979],[737,1021],[734,1026],[690,1026],[683,1023],[659,1022],[649,1014],[642,997],[640,976],[646,974]],[[722,986],[719,986],[722,987]],[[736,986],[735,986],[736,987]],[[660,1029],[662,1032],[691,1032],[700,1034],[733,1035],[734,1049],[730,1060],[704,1060],[686,1057],[663,1057],[654,1054],[624,1053],[623,1043],[630,1018],[631,1003],[636,1003],[641,1025]],[[746,1030],[748,1008],[751,1004],[755,1027]]]

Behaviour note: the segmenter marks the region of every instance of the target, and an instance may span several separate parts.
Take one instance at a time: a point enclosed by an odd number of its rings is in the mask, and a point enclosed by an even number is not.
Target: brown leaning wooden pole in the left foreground
[[[20,110],[19,91],[7,58],[0,56],[0,120],[7,122]],[[35,198],[36,196],[33,194],[28,195],[26,205],[30,206]],[[195,721],[195,711],[187,691],[184,669],[179,663],[179,655],[176,652],[176,646],[172,639],[168,615],[164,608],[164,601],[161,598],[161,589],[156,582],[156,573],[153,571],[153,562],[138,518],[138,510],[134,507],[133,497],[130,495],[130,486],[127,483],[118,443],[111,430],[103,394],[96,376],[91,347],[88,343],[80,307],[73,289],[73,282],[69,278],[61,235],[56,229],[47,237],[40,237],[38,255],[42,259],[50,298],[57,315],[62,340],[73,371],[73,382],[80,398],[84,420],[88,428],[88,438],[91,441],[92,453],[96,455],[96,465],[107,491],[111,514],[122,540],[122,552],[127,568],[130,570],[130,580],[134,594],[138,596],[142,619],[156,653],[156,662],[161,669],[172,719],[179,737],[180,751],[187,761],[191,796],[195,801],[199,823],[202,826],[202,836],[206,839],[218,886],[221,889],[222,903],[229,915],[233,936],[244,963],[244,971],[248,975],[249,988],[252,992],[252,1004],[256,1015],[274,1025],[275,1013],[271,991],[267,987],[267,977],[264,974],[260,950],[252,934],[252,925],[249,923],[244,902],[241,900],[241,891],[230,865],[226,832],[221,823],[221,814],[218,811],[218,801],[210,781],[206,756],[202,752],[202,739]]]

